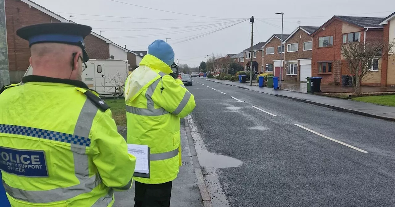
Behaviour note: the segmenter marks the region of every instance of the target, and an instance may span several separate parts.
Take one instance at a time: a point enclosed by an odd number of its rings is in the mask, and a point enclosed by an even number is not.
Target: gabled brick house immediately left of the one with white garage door
[[[275,76],[280,76],[281,65],[284,67],[285,53],[284,48],[281,50],[281,42],[287,39],[290,35],[273,34],[264,45],[262,45],[263,51],[265,52],[265,58],[263,58],[263,64],[261,71],[265,73],[272,73]],[[282,51],[282,52],[281,52]],[[280,53],[282,53],[282,62],[280,65]],[[282,74],[284,75],[284,73]],[[284,80],[284,76],[282,78]]]

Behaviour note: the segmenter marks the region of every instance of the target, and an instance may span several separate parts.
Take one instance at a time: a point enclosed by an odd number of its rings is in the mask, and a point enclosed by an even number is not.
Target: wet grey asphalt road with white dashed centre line
[[[395,123],[193,78],[214,207],[395,206]]]

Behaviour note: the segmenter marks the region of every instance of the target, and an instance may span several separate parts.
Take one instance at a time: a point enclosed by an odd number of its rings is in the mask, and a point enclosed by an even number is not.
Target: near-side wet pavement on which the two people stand
[[[186,129],[188,129],[188,127],[186,127],[185,121],[184,119],[181,119],[182,166],[180,167],[180,172],[177,178],[173,181],[173,188],[171,189],[170,206],[171,207],[186,207],[186,206],[211,207],[211,205],[209,205],[211,204],[211,202],[210,201],[207,202],[207,198],[205,198],[205,203],[203,203],[202,200],[200,188],[203,188],[204,190],[205,185],[203,186],[199,185],[202,183],[202,182],[199,183],[199,179],[197,177],[199,172],[198,170],[200,170],[200,166],[199,163],[195,164],[194,161],[192,160],[191,154],[194,153],[193,152],[194,148],[192,151],[190,150]],[[126,130],[124,130],[121,134],[126,139]],[[196,154],[196,152],[194,154]],[[201,171],[200,171],[200,175],[201,175]],[[134,183],[132,185],[132,188],[130,188],[130,190],[115,192],[114,197],[115,197],[114,207],[134,206]]]

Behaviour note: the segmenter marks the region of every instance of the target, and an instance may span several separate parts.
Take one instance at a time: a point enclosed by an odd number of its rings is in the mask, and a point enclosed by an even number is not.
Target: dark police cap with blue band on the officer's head
[[[90,26],[74,23],[45,23],[25,26],[17,30],[17,35],[29,41],[29,47],[37,43],[63,43],[81,47],[84,62],[89,60],[84,38],[90,34]]]

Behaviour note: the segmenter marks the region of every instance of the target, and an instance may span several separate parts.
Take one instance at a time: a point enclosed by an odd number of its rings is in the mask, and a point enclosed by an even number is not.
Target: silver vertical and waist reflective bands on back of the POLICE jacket
[[[87,99],[78,116],[73,135],[88,137],[97,111],[98,108]],[[71,144],[71,151],[73,151],[75,177],[79,180],[78,185],[52,190],[21,190],[13,188],[3,181],[6,192],[17,200],[31,203],[50,203],[68,200],[92,191],[99,183],[96,175],[89,177],[88,156],[85,155],[85,146]]]

